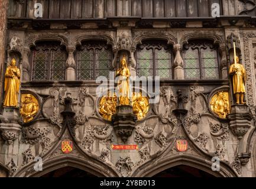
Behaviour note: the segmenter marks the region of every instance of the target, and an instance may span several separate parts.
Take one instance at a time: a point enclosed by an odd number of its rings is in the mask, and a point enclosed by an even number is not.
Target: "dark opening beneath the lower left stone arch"
[[[63,167],[57,170],[47,172],[41,177],[96,177],[90,172],[80,170],[79,168],[74,167]]]

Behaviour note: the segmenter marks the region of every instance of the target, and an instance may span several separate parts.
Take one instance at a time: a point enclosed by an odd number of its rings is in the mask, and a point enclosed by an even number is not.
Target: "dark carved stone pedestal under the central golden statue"
[[[126,142],[128,137],[132,135],[135,128],[137,115],[132,112],[132,106],[117,106],[116,114],[112,115],[112,122],[116,135],[121,137],[123,142]]]

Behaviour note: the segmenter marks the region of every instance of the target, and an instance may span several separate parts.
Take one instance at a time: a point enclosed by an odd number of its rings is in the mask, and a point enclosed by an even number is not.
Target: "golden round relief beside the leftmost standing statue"
[[[34,116],[38,112],[38,101],[32,94],[22,94],[21,95],[21,109],[20,113],[24,120],[24,123],[31,122]]]

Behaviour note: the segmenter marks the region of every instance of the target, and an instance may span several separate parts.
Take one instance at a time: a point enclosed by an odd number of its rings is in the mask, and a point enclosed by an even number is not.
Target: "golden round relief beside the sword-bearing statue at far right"
[[[220,91],[215,94],[210,100],[210,107],[219,118],[226,119],[230,113],[228,92]]]

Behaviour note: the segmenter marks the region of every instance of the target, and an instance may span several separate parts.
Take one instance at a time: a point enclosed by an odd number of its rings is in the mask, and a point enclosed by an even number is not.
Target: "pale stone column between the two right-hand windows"
[[[182,46],[180,44],[174,45],[174,50],[176,51],[176,56],[174,59],[174,79],[184,79],[184,63],[180,51]]]

